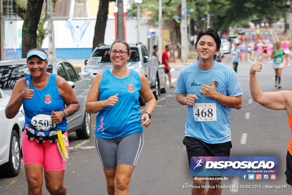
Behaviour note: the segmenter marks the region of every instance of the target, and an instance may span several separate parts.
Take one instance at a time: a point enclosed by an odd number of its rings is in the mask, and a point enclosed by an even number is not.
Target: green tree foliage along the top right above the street
[[[179,0],[162,1],[163,20],[166,24],[174,17]],[[152,12],[153,24],[158,24],[158,1],[143,0],[141,4],[141,13],[144,11]],[[242,26],[244,23],[253,20],[253,16],[260,20],[266,19],[273,21],[279,19],[282,13],[286,12],[289,6],[287,0],[187,0],[187,9],[193,8],[194,12],[189,14],[193,18],[198,30],[206,29],[207,14],[213,14],[210,17],[210,27],[218,32],[228,32],[230,25]],[[136,5],[133,4],[129,15],[136,16]],[[176,20],[179,23],[178,20]]]

